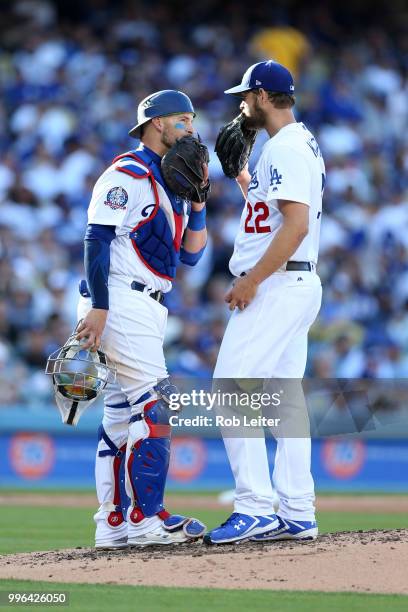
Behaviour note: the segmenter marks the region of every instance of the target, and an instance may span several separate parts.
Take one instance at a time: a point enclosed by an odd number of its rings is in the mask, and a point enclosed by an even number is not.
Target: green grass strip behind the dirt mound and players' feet
[[[209,529],[224,521],[230,512],[227,508],[191,511],[182,506],[174,506],[171,510],[186,515],[192,513]],[[91,508],[0,506],[0,554],[93,546],[93,513]],[[408,528],[408,517],[404,514],[320,512],[318,521],[321,533]]]

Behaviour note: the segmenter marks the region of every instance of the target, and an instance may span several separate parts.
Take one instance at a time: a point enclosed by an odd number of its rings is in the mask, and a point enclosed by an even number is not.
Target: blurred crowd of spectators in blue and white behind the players
[[[49,0],[3,7],[0,405],[51,397],[43,368],[75,324],[92,187],[115,155],[137,146],[127,132],[138,101],[186,91],[212,151],[238,112],[223,90],[269,58],[294,72],[297,119],[315,133],[327,167],[324,295],[307,376],[408,376],[408,13],[396,2],[362,36],[351,8],[336,15],[330,3],[308,12],[270,4],[237,12],[219,0],[199,10],[84,0],[73,3],[76,14]],[[173,374],[211,375],[228,318],[243,201],[214,153],[210,172],[208,248],[196,268],[180,266],[166,298]]]

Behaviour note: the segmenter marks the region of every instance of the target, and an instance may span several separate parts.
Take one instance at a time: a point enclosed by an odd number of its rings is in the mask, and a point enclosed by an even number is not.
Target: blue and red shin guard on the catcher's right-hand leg
[[[144,414],[132,416],[130,423],[142,419],[149,428],[149,435],[138,440],[132,447],[127,469],[135,507],[141,515],[149,517],[163,510],[171,431],[166,403],[161,399],[153,400],[146,404]]]

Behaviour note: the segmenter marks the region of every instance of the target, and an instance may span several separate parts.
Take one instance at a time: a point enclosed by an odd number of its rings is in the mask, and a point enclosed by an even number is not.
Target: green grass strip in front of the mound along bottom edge
[[[63,591],[68,594],[69,603],[59,609],[68,609],[69,612],[111,612],[118,609],[133,610],[136,607],[149,612],[294,612],[299,609],[302,612],[403,612],[408,604],[408,598],[403,595],[50,584],[20,580],[0,581],[0,593],[2,591]],[[50,606],[18,606],[21,610],[32,610],[33,607],[36,610],[50,609]]]

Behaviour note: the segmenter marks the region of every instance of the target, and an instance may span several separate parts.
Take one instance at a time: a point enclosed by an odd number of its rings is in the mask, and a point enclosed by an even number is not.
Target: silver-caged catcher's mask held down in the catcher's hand
[[[67,425],[76,425],[84,410],[116,379],[116,369],[105,353],[84,350],[81,342],[74,331],[64,346],[51,353],[45,368],[52,376],[55,400]]]

